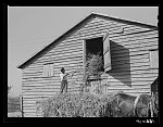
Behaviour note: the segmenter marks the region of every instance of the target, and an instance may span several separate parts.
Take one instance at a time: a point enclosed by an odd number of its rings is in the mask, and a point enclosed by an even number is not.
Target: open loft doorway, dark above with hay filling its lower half
[[[84,64],[85,64],[85,74],[92,72],[100,73],[104,71],[103,64],[103,37],[91,38],[85,40],[84,48]],[[88,67],[89,66],[89,67]],[[89,71],[88,71],[89,68]]]

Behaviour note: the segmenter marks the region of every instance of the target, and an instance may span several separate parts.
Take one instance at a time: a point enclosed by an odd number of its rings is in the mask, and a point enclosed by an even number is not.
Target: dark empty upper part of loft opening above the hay
[[[102,66],[100,67],[99,72],[103,72],[103,41],[102,37],[92,38],[86,40],[86,62],[92,56],[97,56],[99,62],[102,62]],[[100,56],[100,58],[99,58]],[[93,63],[93,65],[101,65],[100,63]]]

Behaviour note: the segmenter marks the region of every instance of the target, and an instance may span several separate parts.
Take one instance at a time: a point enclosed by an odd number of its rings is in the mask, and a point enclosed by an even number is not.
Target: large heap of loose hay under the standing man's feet
[[[43,117],[102,117],[111,94],[97,97],[88,92],[55,94],[38,102]]]

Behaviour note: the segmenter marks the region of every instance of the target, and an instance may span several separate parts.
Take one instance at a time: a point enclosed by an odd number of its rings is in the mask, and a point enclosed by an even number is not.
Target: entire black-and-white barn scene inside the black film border
[[[158,17],[159,7],[8,5],[8,118],[155,124]]]

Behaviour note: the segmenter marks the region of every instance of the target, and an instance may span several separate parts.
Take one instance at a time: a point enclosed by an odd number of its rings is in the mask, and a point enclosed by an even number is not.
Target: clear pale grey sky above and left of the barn
[[[91,12],[158,26],[158,7],[8,7],[8,86],[21,93],[22,71],[28,60]]]

